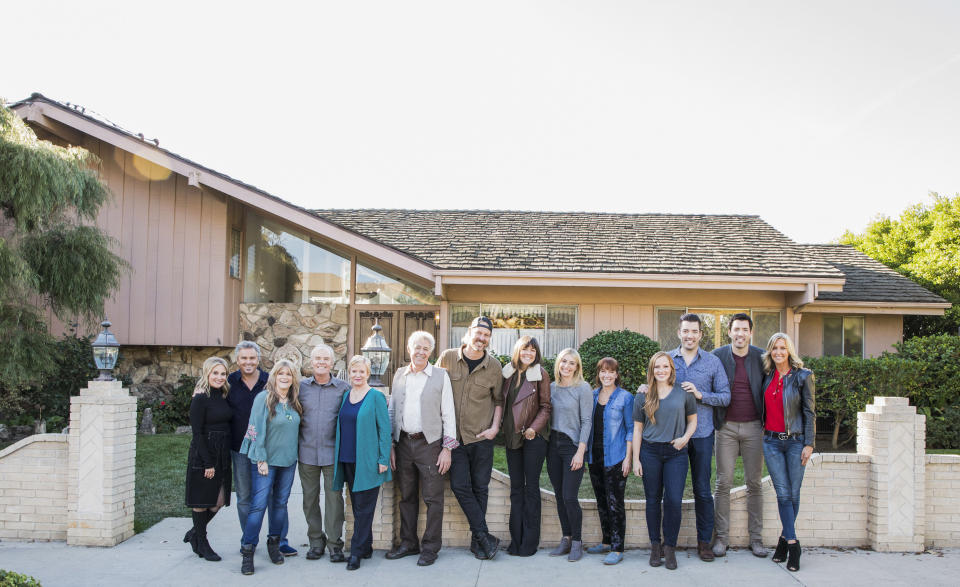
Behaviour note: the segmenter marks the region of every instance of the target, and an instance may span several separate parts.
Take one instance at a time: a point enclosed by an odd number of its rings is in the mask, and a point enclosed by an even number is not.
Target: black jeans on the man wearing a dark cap
[[[493,441],[480,440],[453,449],[450,490],[457,497],[470,532],[487,533],[487,496],[493,472]]]

